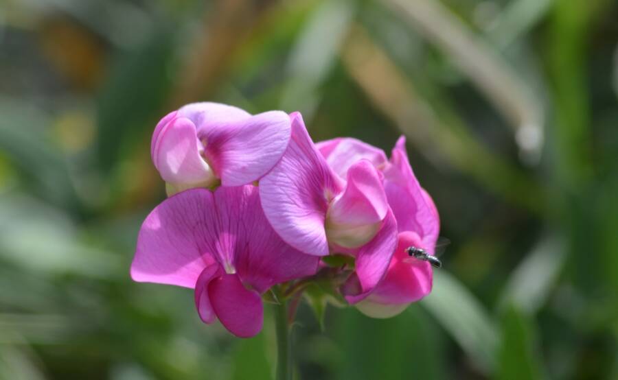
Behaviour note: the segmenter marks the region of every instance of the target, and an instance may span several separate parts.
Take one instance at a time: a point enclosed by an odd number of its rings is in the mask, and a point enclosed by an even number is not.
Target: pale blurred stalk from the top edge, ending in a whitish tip
[[[439,1],[382,0],[451,58],[514,126],[516,142],[528,161],[538,161],[543,112],[534,93],[487,44]]]

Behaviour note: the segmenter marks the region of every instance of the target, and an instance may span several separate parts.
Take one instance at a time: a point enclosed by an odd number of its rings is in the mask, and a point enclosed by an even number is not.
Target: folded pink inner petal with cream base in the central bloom
[[[328,241],[344,248],[357,248],[373,239],[389,210],[380,174],[367,160],[347,171],[347,185],[328,207]]]

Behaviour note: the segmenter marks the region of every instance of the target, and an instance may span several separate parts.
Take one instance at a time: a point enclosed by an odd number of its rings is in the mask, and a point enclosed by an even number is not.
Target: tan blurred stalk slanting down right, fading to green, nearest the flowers
[[[511,202],[544,214],[545,189],[474,139],[457,115],[444,106],[446,99],[431,103],[442,104],[442,108],[430,106],[360,26],[352,29],[341,54],[350,75],[371,102],[430,161],[446,161]]]

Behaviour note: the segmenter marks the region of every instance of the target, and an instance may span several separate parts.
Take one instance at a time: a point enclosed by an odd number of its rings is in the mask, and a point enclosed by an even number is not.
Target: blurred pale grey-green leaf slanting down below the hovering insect
[[[453,336],[480,370],[490,373],[499,335],[481,302],[457,278],[435,272],[433,292],[421,305]]]

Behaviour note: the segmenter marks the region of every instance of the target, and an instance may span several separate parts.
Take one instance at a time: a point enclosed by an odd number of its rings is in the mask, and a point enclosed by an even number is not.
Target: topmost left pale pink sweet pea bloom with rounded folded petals
[[[171,195],[194,187],[247,185],[264,176],[290,141],[290,117],[217,103],[171,112],[152,134],[150,154]]]

